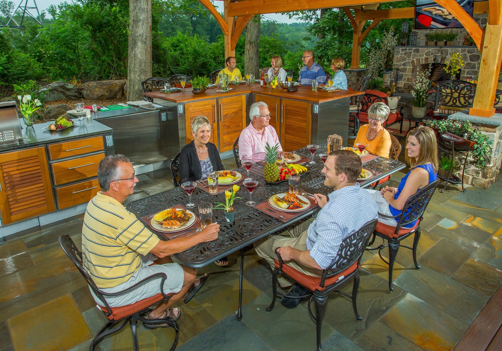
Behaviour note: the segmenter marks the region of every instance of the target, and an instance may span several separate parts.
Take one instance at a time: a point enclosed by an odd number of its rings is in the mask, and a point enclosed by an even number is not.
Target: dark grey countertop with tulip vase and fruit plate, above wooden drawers
[[[78,122],[78,125],[56,132],[43,129],[44,127],[47,127],[49,123],[34,124],[33,127],[28,128],[21,119],[20,122],[23,137],[26,137],[27,139],[20,141],[19,143],[0,144],[0,152],[26,149],[32,146],[57,143],[113,132],[112,128],[93,121],[92,119],[86,118],[81,121],[74,119],[74,121]]]

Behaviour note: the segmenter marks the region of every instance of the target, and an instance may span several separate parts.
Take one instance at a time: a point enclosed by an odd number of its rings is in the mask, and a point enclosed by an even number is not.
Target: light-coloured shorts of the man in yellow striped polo
[[[155,257],[152,253],[148,253],[146,256],[142,255],[141,258],[143,262],[140,269],[138,269],[138,271],[132,275],[128,281],[117,286],[101,290],[108,293],[118,292],[127,289],[128,287],[145,278],[148,278],[151,275],[154,275],[155,273],[166,273],[167,279],[164,281],[164,292],[166,294],[181,290],[183,287],[183,268],[179,263],[154,264],[151,266],[150,264],[152,264],[157,257]],[[122,295],[105,297],[106,301],[110,307],[119,307],[133,304],[144,298],[154,296],[161,292],[161,279],[162,278],[153,279],[137,287],[133,291]],[[91,290],[92,297],[94,297],[94,301],[96,301],[96,303],[100,306],[103,305],[103,302],[94,294],[92,289],[90,287],[89,289]]]

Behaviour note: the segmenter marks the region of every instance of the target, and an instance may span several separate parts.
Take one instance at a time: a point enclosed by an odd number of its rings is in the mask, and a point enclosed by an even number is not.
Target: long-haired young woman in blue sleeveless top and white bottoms
[[[379,212],[388,216],[401,214],[410,196],[437,179],[437,142],[431,128],[420,126],[408,133],[405,152],[405,160],[410,164],[411,171],[401,179],[397,188],[387,186],[381,191],[367,189],[376,201]],[[378,220],[394,227],[397,225],[397,218],[379,217]],[[407,227],[413,227],[416,222]]]

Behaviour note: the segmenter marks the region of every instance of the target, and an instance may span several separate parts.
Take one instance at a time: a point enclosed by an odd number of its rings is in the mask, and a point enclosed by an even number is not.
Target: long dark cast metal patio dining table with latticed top
[[[319,154],[326,152],[326,143],[319,143],[319,149],[316,151],[314,160],[315,165],[308,165],[309,172],[302,174],[300,177],[300,187],[305,189],[310,193],[324,193],[328,194],[332,189],[327,188],[324,183],[324,176],[320,173],[324,167],[323,162],[319,158]],[[296,154],[310,158],[311,153],[307,148],[299,149],[295,151]],[[307,166],[307,164],[305,164]],[[370,170],[371,172],[379,173],[378,176],[370,178],[367,181],[360,182],[361,187],[367,187],[368,185],[379,181],[393,174],[405,167],[405,164],[401,161],[396,161],[388,159],[385,157],[376,157],[363,164],[363,167]],[[236,168],[236,171],[245,174],[245,169],[240,167]],[[253,172],[251,172],[253,173]],[[253,174],[253,179],[260,182],[260,185],[253,191],[253,200],[257,203],[267,200],[274,194],[282,193],[288,191],[288,182],[283,182],[279,184],[265,184],[265,179]],[[255,207],[249,207],[245,205],[246,198],[248,196],[245,187],[241,186],[239,191],[242,200],[237,200],[234,202],[235,209],[235,221],[229,223],[225,220],[225,215],[223,210],[213,210],[213,222],[218,222],[220,225],[220,232],[218,234],[218,239],[198,244],[186,251],[175,254],[174,256],[185,266],[191,268],[200,268],[214,261],[227,256],[237,250],[241,250],[240,259],[240,278],[239,278],[239,305],[237,310],[237,320],[242,319],[242,273],[244,268],[244,247],[249,244],[253,244],[255,241],[260,240],[268,235],[280,233],[288,227],[302,219],[306,219],[315,213],[317,213],[320,208],[315,206],[305,210],[298,217],[283,222],[275,217],[267,215]],[[157,212],[160,212],[169,206],[176,204],[184,204],[188,200],[186,192],[181,188],[177,187],[160,194],[145,197],[143,199],[131,202],[127,208],[129,211],[134,213],[138,218],[148,216]],[[192,193],[192,202],[225,202],[224,193],[218,195],[210,195],[209,193],[196,188]],[[149,224],[144,222],[147,227]],[[162,238],[161,238],[162,239]]]

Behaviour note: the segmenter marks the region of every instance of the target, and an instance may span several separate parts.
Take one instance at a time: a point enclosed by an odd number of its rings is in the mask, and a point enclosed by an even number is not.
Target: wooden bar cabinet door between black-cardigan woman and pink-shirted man
[[[233,143],[246,127],[246,96],[228,96],[218,99],[219,152],[232,150]]]

